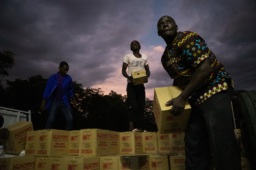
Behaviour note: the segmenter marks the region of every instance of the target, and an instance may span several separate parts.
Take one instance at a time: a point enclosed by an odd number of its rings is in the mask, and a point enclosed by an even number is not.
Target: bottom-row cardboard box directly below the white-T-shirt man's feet
[[[123,170],[123,169],[149,170],[149,156],[148,155],[119,156],[118,170]]]

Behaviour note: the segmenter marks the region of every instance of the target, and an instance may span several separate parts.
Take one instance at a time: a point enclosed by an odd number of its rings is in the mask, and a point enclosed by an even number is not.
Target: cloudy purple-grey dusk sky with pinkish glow
[[[14,81],[58,72],[69,64],[68,75],[85,88],[126,94],[122,64],[131,41],[148,55],[151,75],[146,97],[154,88],[172,86],[161,56],[166,46],[157,35],[157,21],[171,16],[178,31],[201,35],[229,70],[235,90],[255,91],[255,0],[6,0],[0,1],[0,51],[15,53],[9,76]]]

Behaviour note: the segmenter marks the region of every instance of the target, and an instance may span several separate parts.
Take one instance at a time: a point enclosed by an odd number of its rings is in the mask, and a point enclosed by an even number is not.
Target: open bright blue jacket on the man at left
[[[45,108],[47,110],[50,109],[50,105],[51,105],[51,101],[52,101],[52,93],[58,86],[58,73],[53,74],[48,79],[46,87],[44,89],[43,98],[46,99]],[[65,104],[65,107],[67,107],[69,105],[68,98],[72,98],[72,97],[74,97],[72,78],[66,74],[62,80],[62,99]]]

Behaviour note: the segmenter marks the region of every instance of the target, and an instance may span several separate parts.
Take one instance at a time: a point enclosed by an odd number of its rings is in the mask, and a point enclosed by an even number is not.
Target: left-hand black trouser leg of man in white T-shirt
[[[134,113],[136,111],[136,92],[132,83],[127,84],[127,121],[129,122],[129,131],[134,129],[133,122],[135,121]]]

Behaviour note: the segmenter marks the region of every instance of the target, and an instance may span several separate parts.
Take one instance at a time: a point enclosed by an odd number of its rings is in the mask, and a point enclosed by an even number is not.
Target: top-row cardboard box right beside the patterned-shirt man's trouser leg
[[[185,155],[185,132],[169,133],[170,153]]]

